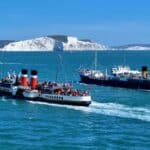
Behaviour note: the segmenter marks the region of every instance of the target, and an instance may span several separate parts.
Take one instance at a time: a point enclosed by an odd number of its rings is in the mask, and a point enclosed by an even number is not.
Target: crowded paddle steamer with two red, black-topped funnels
[[[32,70],[28,78],[28,70],[21,74],[9,74],[0,81],[0,95],[20,100],[39,101],[63,105],[89,106],[91,96],[87,91],[74,89],[70,84],[55,82],[38,82],[37,71]]]

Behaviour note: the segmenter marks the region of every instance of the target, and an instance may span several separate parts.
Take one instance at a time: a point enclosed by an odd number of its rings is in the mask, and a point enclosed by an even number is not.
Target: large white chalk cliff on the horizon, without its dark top
[[[57,36],[58,38],[59,36]],[[51,36],[40,37],[6,44],[1,50],[5,51],[54,51],[54,50],[107,50],[108,47],[91,42],[90,40],[78,40],[76,37],[64,36],[67,40],[61,41]]]

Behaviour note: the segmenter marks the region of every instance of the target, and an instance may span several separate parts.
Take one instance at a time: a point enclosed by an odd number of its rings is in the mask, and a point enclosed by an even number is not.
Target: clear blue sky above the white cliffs
[[[91,38],[106,45],[150,43],[150,1],[0,1],[0,39],[51,34]]]

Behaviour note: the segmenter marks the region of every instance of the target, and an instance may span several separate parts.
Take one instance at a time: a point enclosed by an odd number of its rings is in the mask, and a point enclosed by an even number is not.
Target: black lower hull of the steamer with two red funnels
[[[33,101],[33,102],[46,102],[46,103],[51,103],[51,104],[60,104],[60,105],[72,105],[72,106],[89,106],[91,102],[86,102],[86,101],[69,101],[69,100],[49,100],[45,98],[25,98],[22,94],[19,95],[11,95],[9,92],[3,92],[0,91],[0,96],[6,96],[8,99],[17,99],[21,101]]]

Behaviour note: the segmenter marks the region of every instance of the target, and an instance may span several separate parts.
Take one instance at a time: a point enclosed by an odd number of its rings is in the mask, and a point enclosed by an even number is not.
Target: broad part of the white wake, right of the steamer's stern
[[[116,103],[97,103],[93,102],[92,112],[117,116],[123,118],[139,119],[150,122],[150,109],[143,107],[130,107]]]

